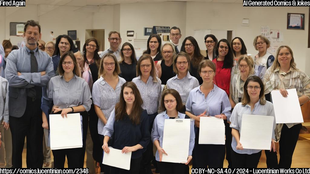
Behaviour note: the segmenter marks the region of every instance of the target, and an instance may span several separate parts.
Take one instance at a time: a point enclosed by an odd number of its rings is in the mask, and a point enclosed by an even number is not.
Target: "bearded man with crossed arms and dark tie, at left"
[[[34,20],[25,23],[26,45],[7,57],[5,78],[9,82],[9,120],[12,133],[12,164],[22,167],[22,152],[27,138],[27,167],[43,165],[42,87],[55,75],[51,57],[38,49],[41,26]]]

